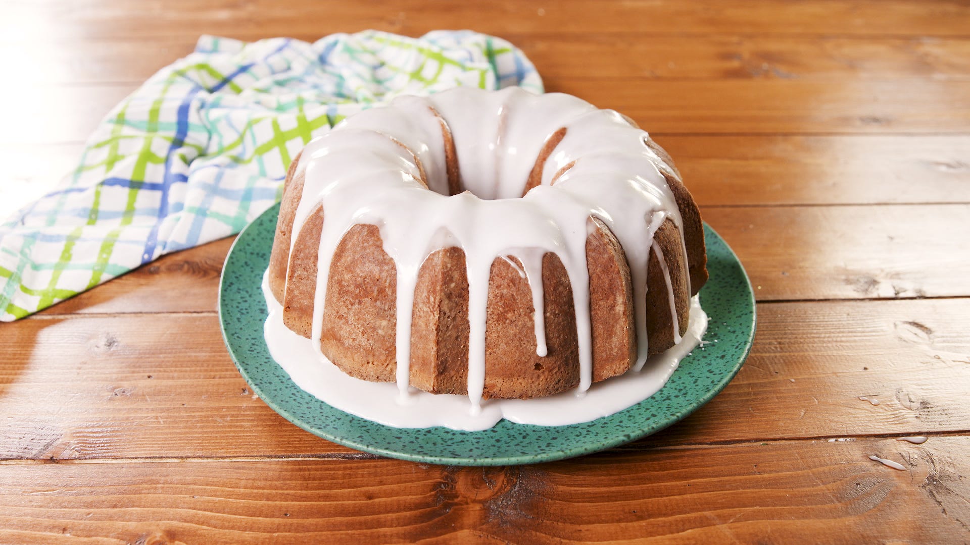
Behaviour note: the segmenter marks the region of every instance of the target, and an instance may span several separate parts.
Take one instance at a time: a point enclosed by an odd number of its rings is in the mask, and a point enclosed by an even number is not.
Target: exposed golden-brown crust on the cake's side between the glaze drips
[[[284,321],[310,337],[322,208],[298,236],[288,279]],[[622,374],[635,361],[636,334],[630,270],[616,238],[598,220],[587,239],[593,328],[593,380]],[[665,256],[682,256],[680,237],[667,220],[655,237]],[[513,258],[514,260],[514,258]],[[668,260],[680,331],[686,332],[690,299],[683,259]],[[516,263],[521,266],[521,264]],[[679,265],[679,266],[678,266]],[[650,353],[673,345],[667,289],[651,256],[647,291]],[[301,271],[305,273],[301,273]],[[396,379],[396,294],[394,261],[384,252],[373,225],[356,225],[340,241],[331,264],[320,347],[341,370],[377,382]],[[535,354],[529,281],[503,259],[492,265],[485,339],[485,393],[527,399],[562,392],[578,384],[578,343],[572,290],[555,254],[543,258],[542,283],[548,355]],[[307,305],[307,302],[310,302]],[[468,380],[469,288],[465,252],[437,250],[422,265],[411,326],[410,383],[434,394],[466,394]]]

